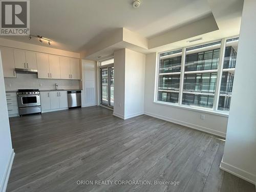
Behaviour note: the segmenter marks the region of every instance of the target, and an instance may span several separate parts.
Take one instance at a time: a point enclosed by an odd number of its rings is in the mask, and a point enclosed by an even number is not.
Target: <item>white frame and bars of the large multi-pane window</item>
[[[200,44],[186,46],[186,47],[183,47],[183,48],[177,48],[177,49],[172,49],[172,50],[167,50],[167,51],[162,51],[162,52],[156,53],[157,54],[157,57],[156,57],[157,60],[156,60],[156,70],[155,70],[155,91],[154,91],[154,101],[153,102],[156,103],[156,104],[160,104],[160,105],[173,106],[175,108],[181,108],[181,109],[186,109],[186,110],[190,110],[190,111],[204,112],[204,113],[209,113],[209,114],[215,114],[215,115],[228,117],[229,111],[218,110],[220,89],[221,89],[221,77],[222,77],[222,73],[223,73],[223,63],[224,63],[224,56],[225,56],[226,41],[228,39],[237,38],[237,37],[239,37],[239,35],[234,35],[234,36],[231,36],[231,37],[225,37],[225,38],[216,39],[216,40],[212,40],[212,41],[202,42]],[[200,46],[200,45],[210,44],[210,43],[218,42],[218,41],[221,41],[220,42],[221,47],[220,47],[220,57],[219,57],[218,69],[197,71],[198,73],[206,73],[206,72],[216,72],[217,73],[216,90],[215,90],[215,94],[214,94],[213,107],[211,109],[208,109],[208,108],[203,108],[203,107],[200,107],[200,106],[189,106],[189,105],[182,104],[184,75],[189,74],[189,73],[190,74],[195,73],[195,71],[185,72],[186,49],[196,47],[196,46]],[[177,72],[177,73],[180,74],[180,88],[179,88],[178,103],[159,101],[158,100],[158,86],[159,86],[160,54],[166,53],[166,52],[171,52],[171,51],[178,51],[178,50],[182,50],[181,71]]]

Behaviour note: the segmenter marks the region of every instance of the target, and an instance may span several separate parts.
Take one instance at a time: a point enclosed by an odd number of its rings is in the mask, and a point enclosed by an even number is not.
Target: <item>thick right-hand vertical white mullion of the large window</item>
[[[226,47],[226,38],[221,40],[220,60],[219,60],[219,67],[218,67],[218,73],[217,73],[216,91],[214,96],[214,111],[218,109],[220,89],[221,89],[221,76],[222,76],[223,62],[225,57],[224,55],[225,47]]]

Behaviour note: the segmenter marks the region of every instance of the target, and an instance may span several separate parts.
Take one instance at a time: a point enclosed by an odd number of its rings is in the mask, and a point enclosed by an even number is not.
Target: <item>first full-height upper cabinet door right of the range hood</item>
[[[43,78],[43,79],[50,78],[48,55],[44,53],[36,53],[36,62],[37,62],[38,78]]]

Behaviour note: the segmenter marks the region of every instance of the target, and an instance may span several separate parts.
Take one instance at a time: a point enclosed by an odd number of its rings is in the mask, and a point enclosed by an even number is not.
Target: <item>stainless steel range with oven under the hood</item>
[[[38,89],[19,89],[17,100],[19,116],[41,113],[40,92]]]

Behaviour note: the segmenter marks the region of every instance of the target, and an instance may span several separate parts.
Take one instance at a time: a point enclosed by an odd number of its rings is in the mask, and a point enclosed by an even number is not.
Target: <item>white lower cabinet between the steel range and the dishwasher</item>
[[[68,108],[67,91],[41,91],[40,99],[43,113]]]

